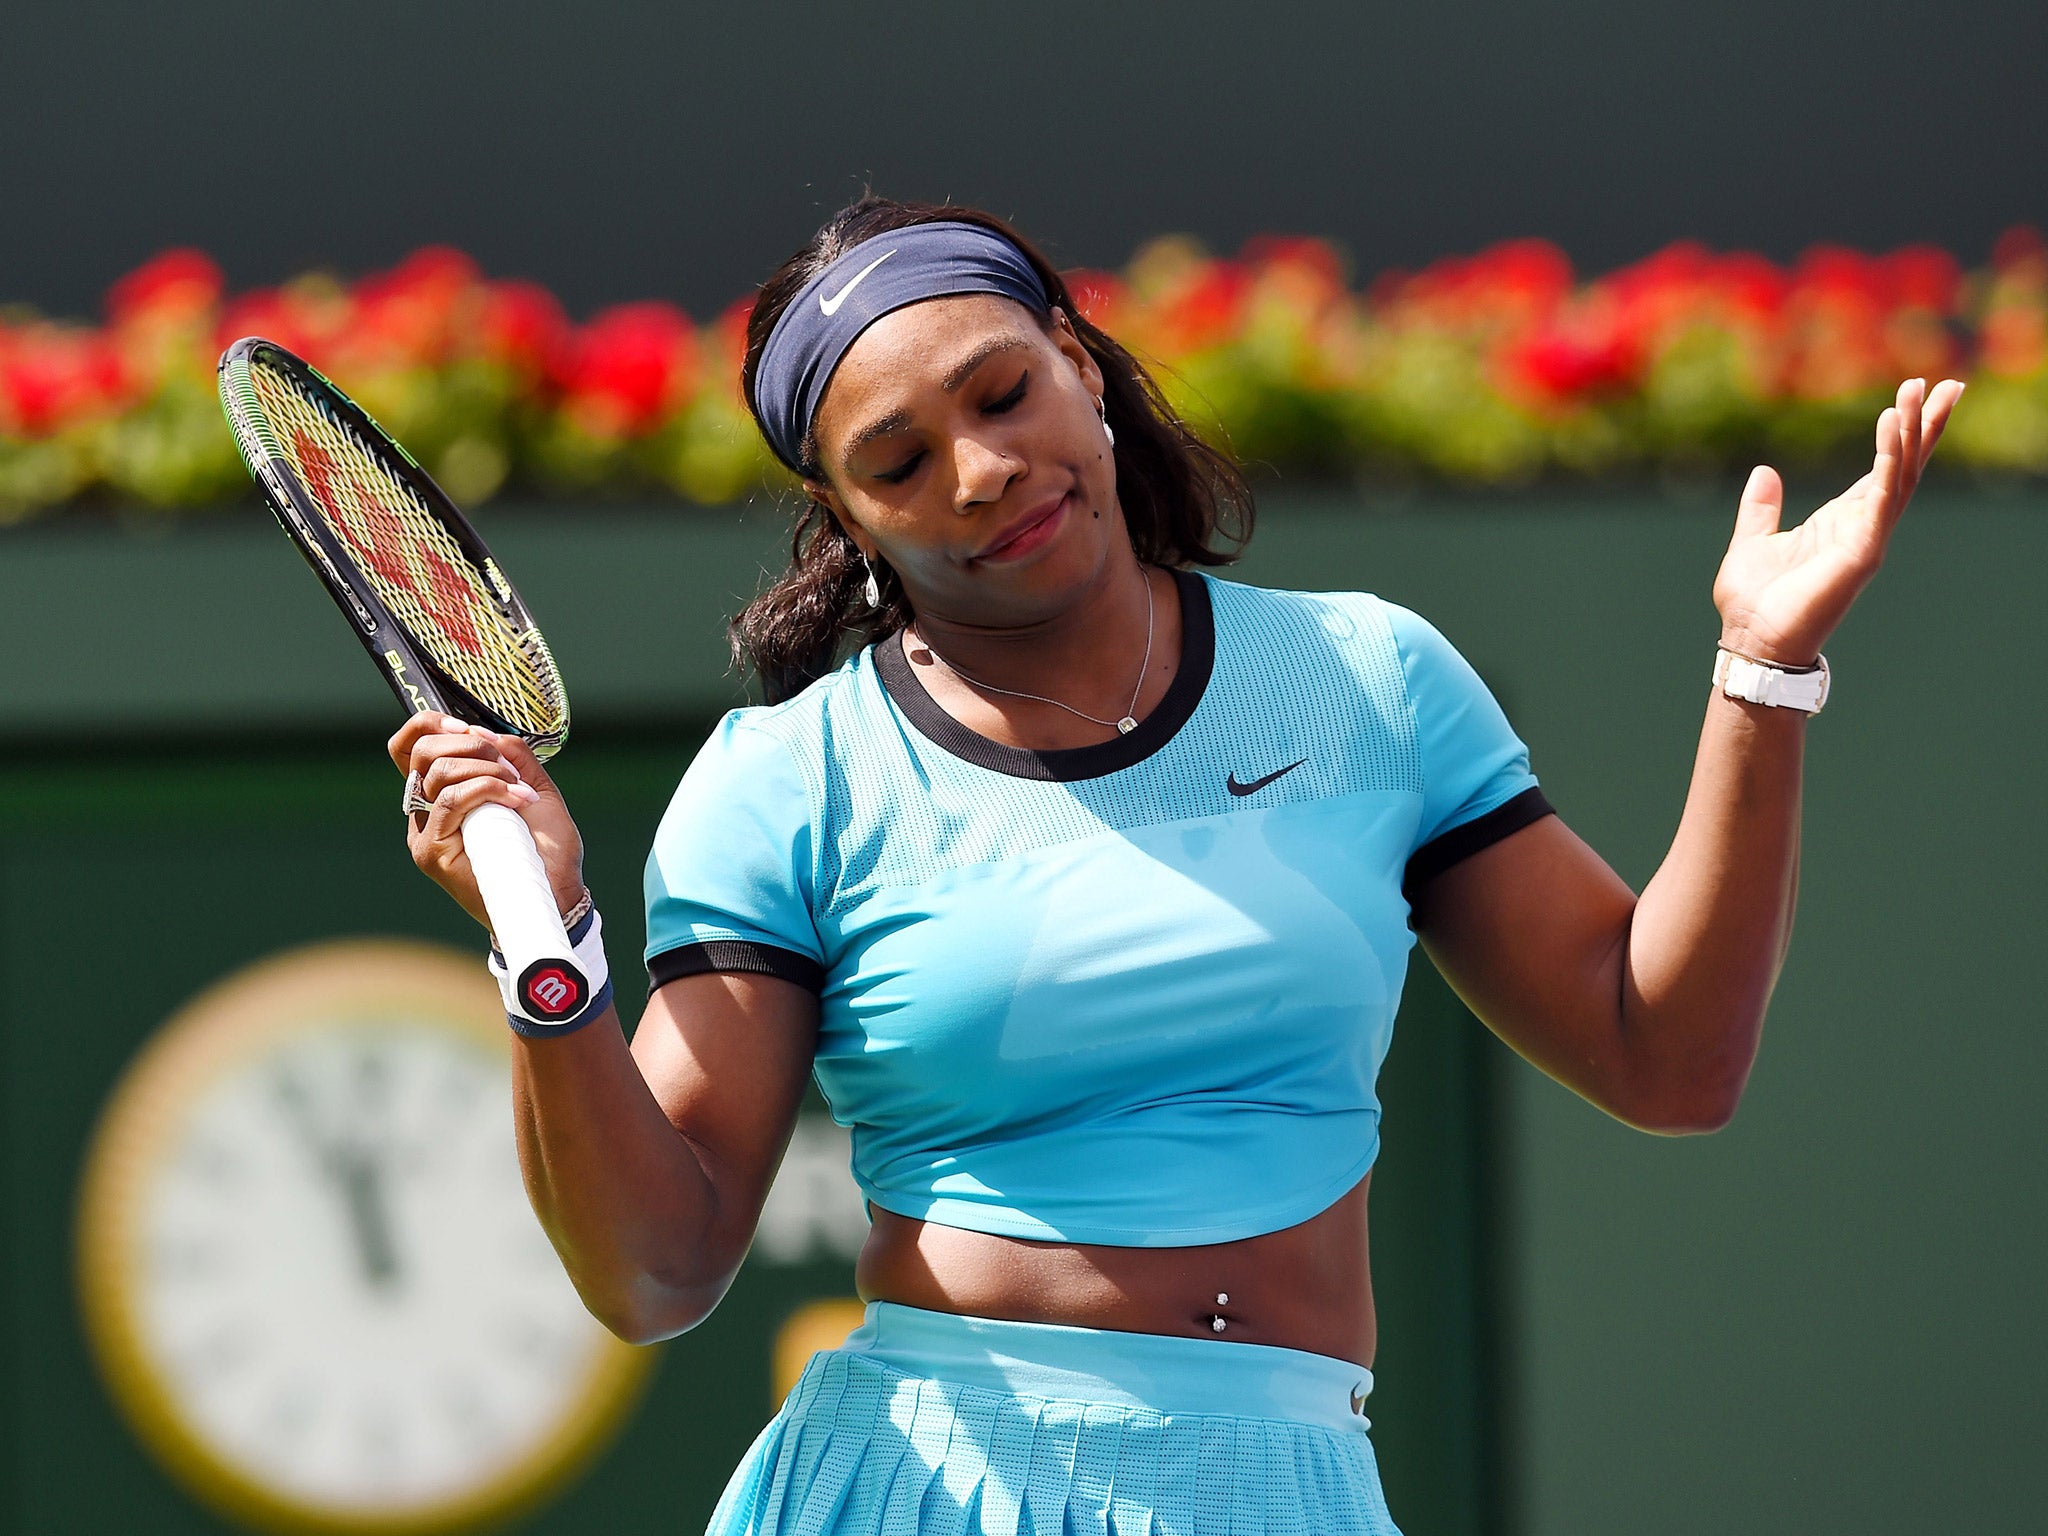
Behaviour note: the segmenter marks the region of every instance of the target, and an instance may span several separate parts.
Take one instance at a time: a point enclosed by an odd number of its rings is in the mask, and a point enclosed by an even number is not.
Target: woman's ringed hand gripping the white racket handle
[[[412,862],[463,911],[489,928],[461,836],[463,819],[479,805],[508,805],[526,821],[561,911],[582,899],[584,840],[561,791],[522,737],[494,735],[481,725],[422,711],[397,729],[389,752],[401,774],[420,774],[420,795],[434,803],[432,811],[406,817]]]

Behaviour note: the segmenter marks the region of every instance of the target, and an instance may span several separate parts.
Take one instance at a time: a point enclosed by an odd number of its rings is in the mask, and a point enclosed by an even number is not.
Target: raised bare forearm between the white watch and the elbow
[[[1735,1112],[1792,936],[1806,715],[1710,694],[1677,836],[1616,950],[1632,1120]]]

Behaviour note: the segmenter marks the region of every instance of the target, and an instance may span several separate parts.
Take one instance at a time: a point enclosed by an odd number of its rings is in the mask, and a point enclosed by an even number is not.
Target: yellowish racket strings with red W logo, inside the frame
[[[526,735],[565,725],[561,678],[426,500],[291,377],[250,369],[276,449],[362,575],[434,662]]]

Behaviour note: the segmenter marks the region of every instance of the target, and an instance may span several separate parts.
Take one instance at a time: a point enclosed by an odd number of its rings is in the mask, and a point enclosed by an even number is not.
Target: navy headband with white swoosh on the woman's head
[[[803,473],[803,440],[846,348],[895,309],[999,293],[1042,315],[1053,301],[1024,252],[979,223],[913,223],[862,240],[788,301],[754,371],[754,408],[776,459]]]

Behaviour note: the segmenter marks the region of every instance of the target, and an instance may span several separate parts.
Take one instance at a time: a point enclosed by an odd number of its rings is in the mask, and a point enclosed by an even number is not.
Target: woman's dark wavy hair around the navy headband
[[[1102,367],[1104,420],[1116,432],[1116,496],[1139,559],[1167,567],[1229,565],[1237,559],[1251,539],[1253,520],[1243,473],[1174,414],[1145,365],[1081,315],[1053,264],[1016,229],[979,209],[862,197],[831,215],[803,250],[782,262],[762,285],[748,319],[741,383],[756,424],[754,377],[762,348],[803,287],[862,240],[942,219],[979,223],[1014,242]],[[803,459],[807,477],[825,479],[815,442],[805,442]],[[913,616],[895,573],[877,567],[877,578],[883,602],[870,608],[862,596],[866,567],[860,551],[838,518],[807,498],[791,539],[788,569],[727,627],[733,666],[760,676],[768,702],[801,692],[831,672],[848,649],[893,635]]]

